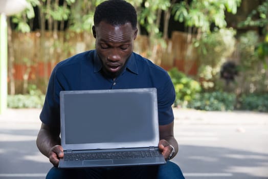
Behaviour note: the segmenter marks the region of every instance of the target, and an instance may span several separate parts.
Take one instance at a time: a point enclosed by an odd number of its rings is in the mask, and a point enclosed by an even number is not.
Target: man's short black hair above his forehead
[[[94,25],[101,21],[117,26],[130,23],[133,29],[137,28],[137,12],[135,8],[123,0],[109,0],[96,7],[94,13]]]

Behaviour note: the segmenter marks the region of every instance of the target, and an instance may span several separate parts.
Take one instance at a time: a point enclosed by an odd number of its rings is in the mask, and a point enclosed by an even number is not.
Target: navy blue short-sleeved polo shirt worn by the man
[[[174,86],[167,72],[150,60],[132,53],[122,73],[115,79],[101,73],[102,62],[95,50],[86,51],[59,62],[50,76],[40,119],[44,124],[60,126],[59,92],[69,90],[157,88],[159,125],[174,120],[171,105]]]

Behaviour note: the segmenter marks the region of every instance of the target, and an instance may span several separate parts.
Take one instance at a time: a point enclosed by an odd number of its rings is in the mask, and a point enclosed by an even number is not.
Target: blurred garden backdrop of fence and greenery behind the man
[[[41,107],[55,64],[95,48],[101,2],[27,0],[7,16],[8,107]],[[139,19],[134,51],[169,72],[174,106],[268,111],[267,0],[128,2]]]

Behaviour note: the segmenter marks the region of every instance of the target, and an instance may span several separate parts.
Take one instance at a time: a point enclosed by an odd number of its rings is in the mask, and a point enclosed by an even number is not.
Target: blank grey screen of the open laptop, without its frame
[[[65,94],[65,143],[151,141],[153,94]]]

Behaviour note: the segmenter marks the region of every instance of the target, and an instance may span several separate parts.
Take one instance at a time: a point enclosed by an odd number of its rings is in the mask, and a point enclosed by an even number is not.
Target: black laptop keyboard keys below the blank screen
[[[86,153],[65,153],[65,161],[77,160],[110,160],[110,159],[139,159],[159,156],[159,151],[113,151],[113,152],[86,152]]]

